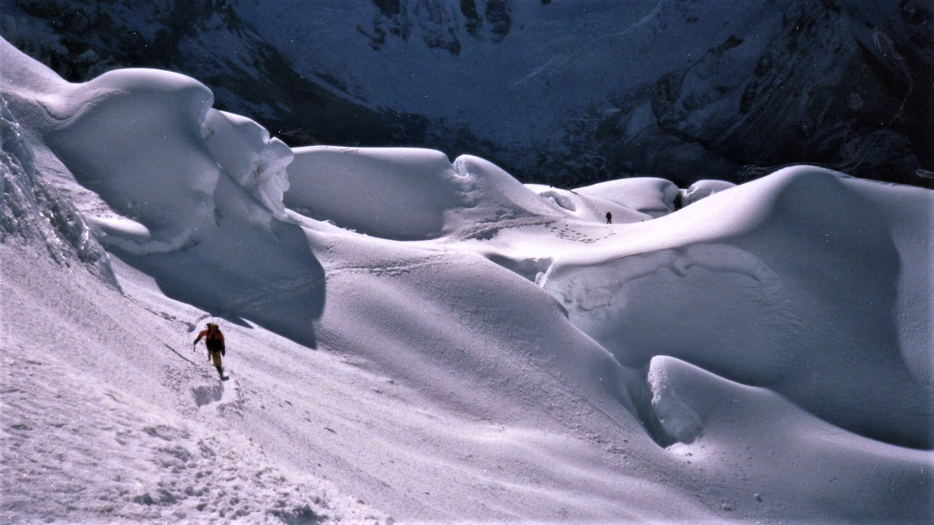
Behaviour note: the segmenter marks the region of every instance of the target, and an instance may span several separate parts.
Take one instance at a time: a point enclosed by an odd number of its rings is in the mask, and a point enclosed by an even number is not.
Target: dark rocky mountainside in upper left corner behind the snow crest
[[[219,108],[251,116],[293,144],[391,142],[419,121],[395,112],[390,119],[389,111],[353,102],[337,78],[296,72],[229,0],[17,0],[16,6],[45,22],[40,27],[50,35],[25,26],[3,36],[70,81],[119,67],[177,71],[209,86]]]

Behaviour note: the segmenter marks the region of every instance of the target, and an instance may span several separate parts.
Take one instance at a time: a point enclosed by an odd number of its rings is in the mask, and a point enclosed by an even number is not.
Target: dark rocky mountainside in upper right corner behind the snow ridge
[[[931,15],[919,2],[901,2],[899,34],[898,24],[880,28],[873,13],[842,4],[790,2],[755,61],[743,35],[729,35],[653,86],[616,98],[618,111],[591,116],[599,121],[592,135],[566,141],[577,160],[564,163],[566,176],[583,168],[687,184],[697,174],[742,181],[817,163],[931,187]],[[562,164],[541,164],[548,163]]]

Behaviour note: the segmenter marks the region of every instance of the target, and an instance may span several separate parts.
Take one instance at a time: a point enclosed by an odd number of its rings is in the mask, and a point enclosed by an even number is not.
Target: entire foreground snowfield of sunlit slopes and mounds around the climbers
[[[3,40],[0,95],[0,522],[934,518],[934,192],[290,149]]]

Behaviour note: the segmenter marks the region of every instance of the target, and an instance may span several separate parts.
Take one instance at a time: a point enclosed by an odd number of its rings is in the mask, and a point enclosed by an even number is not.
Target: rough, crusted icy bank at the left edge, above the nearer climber
[[[68,201],[38,177],[33,150],[21,136],[20,124],[0,97],[0,242],[12,238],[40,240],[59,264],[72,260],[118,287],[103,248],[91,234],[84,218]]]

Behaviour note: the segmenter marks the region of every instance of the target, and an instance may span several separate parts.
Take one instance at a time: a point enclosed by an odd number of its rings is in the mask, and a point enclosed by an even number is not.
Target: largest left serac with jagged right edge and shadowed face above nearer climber
[[[6,63],[22,62],[4,50]],[[89,221],[111,253],[173,298],[315,345],[323,271],[303,229],[275,216],[288,148],[247,119],[219,115],[219,131],[203,128],[211,92],[175,73],[123,69],[79,84],[11,78],[22,79],[16,93],[32,133],[95,194]],[[219,159],[205,129],[215,131]]]

